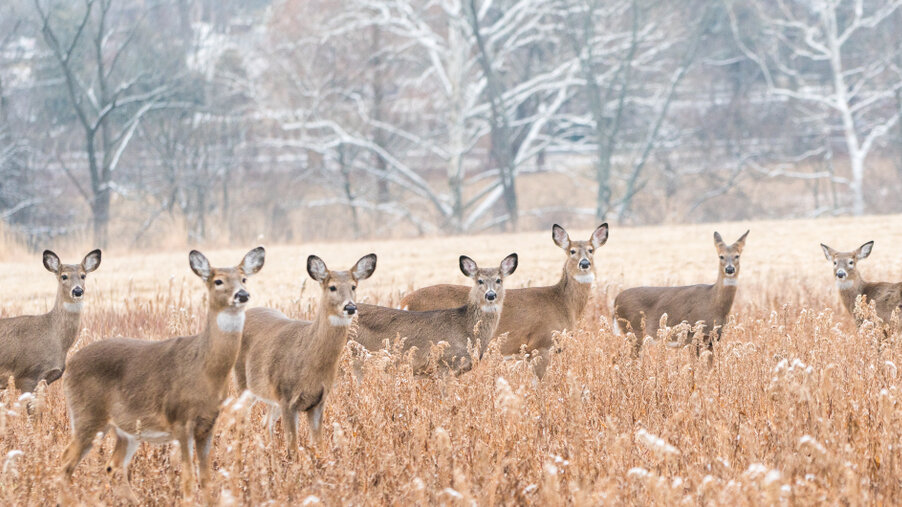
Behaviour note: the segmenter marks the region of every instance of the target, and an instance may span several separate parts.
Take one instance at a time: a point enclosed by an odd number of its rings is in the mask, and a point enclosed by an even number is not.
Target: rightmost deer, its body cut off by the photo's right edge
[[[867,301],[874,302],[877,316],[884,324],[891,322],[895,310],[902,311],[902,282],[868,282],[858,273],[856,261],[866,259],[871,255],[873,248],[874,242],[868,241],[851,252],[837,252],[821,243],[824,256],[833,262],[833,276],[836,278],[839,298],[855,319],[857,326],[862,323],[861,318],[855,315],[855,301],[858,296],[864,296]]]

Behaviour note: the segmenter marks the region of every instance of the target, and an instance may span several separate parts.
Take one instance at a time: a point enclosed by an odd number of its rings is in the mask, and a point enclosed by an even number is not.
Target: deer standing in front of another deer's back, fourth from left
[[[478,346],[480,357],[495,335],[504,305],[504,279],[517,269],[517,254],[510,254],[498,268],[479,268],[473,259],[460,256],[460,270],[473,280],[463,306],[414,312],[375,305],[358,305],[356,340],[368,350],[379,350],[385,340],[404,339],[403,350],[416,347],[413,370],[423,373],[433,345],[447,342],[438,366],[462,373],[472,368],[468,351]]]

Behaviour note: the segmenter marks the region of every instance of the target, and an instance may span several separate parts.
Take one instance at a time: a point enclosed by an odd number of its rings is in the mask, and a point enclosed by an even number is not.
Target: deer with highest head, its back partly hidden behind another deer
[[[501,354],[535,353],[533,372],[538,378],[545,374],[554,332],[574,329],[589,302],[595,281],[594,255],[608,240],[608,224],[599,225],[587,241],[571,240],[563,227],[554,224],[551,238],[567,256],[560,280],[547,287],[507,290],[495,331],[495,336],[508,336]],[[414,311],[454,308],[466,302],[469,290],[451,284],[424,287],[404,296],[401,307]]]

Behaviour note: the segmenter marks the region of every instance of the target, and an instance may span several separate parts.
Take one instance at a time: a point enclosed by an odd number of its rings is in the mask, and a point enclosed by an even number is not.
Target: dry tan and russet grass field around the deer
[[[571,237],[588,238],[594,224],[582,225]],[[747,228],[734,319],[713,357],[655,344],[633,358],[610,329],[617,292],[711,283],[712,232],[732,242]],[[375,357],[360,383],[344,368],[326,405],[321,445],[302,449],[296,462],[285,459],[280,441],[270,442],[260,404],[230,400],[213,447],[214,501],[898,504],[902,343],[855,329],[818,246],[851,250],[871,239],[876,245],[861,264],[863,275],[902,280],[902,216],[614,226],[595,256],[590,305],[578,329],[560,336],[562,351],[542,381],[497,353],[451,378],[416,378],[402,362]],[[252,246],[205,253],[214,265],[233,264]],[[251,303],[299,318],[309,318],[318,298],[305,272],[310,253],[347,269],[376,252],[375,275],[361,282],[359,297],[385,304],[410,288],[464,283],[461,253],[495,265],[518,252],[509,287],[551,283],[564,261],[550,231],[266,246],[266,266],[248,282]],[[60,254],[74,262],[87,250]],[[40,256],[4,258],[0,313],[46,311],[56,286]],[[194,333],[204,292],[187,251],[105,252],[88,280],[75,349],[113,336]],[[18,393],[0,393],[0,503],[37,505],[59,496],[59,459],[69,437],[61,387],[38,394],[33,417]],[[103,470],[112,444],[109,436],[102,440],[76,471],[72,493],[86,505],[120,503]],[[180,498],[175,447],[140,447],[131,476],[142,502]]]

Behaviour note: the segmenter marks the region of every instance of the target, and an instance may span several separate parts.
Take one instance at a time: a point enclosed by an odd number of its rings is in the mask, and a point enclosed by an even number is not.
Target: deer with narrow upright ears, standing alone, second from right
[[[745,247],[749,231],[740,236],[732,245],[724,243],[719,233],[714,233],[714,247],[720,264],[717,281],[712,285],[689,285],[685,287],[634,287],[626,289],[614,299],[615,333],[620,329],[640,333],[652,338],[657,336],[661,317],[674,323],[688,322],[694,325],[702,322],[704,327],[694,336],[696,343],[703,343],[713,351],[714,342],[719,341],[721,330],[730,314],[736,291],[739,288],[739,257]],[[636,340],[634,354],[642,347],[642,337]],[[698,348],[696,349],[698,352]]]

